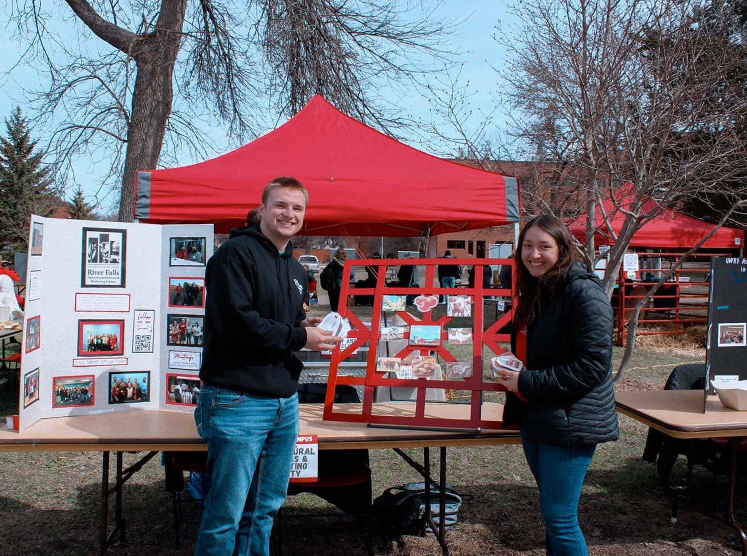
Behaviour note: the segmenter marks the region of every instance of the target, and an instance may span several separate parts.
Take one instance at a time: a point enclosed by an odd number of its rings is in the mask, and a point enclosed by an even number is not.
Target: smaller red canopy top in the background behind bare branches
[[[611,199],[607,199],[602,206],[604,212],[610,219],[615,234],[619,234],[625,214],[617,210]],[[654,202],[649,199],[643,203],[643,210],[648,211],[654,208]],[[607,245],[613,243],[609,234],[609,228],[604,222],[601,211],[595,215],[595,225],[597,229],[594,242],[596,245]],[[586,213],[578,216],[576,219],[568,222],[568,228],[571,228],[574,236],[579,240],[586,239]],[[646,222],[642,227],[633,234],[633,240],[630,241],[630,247],[650,248],[650,249],[689,249],[695,246],[698,241],[703,239],[711,230],[713,224],[703,222],[687,216],[676,210],[666,209],[659,216],[654,217]],[[714,249],[739,249],[744,246],[744,232],[736,228],[719,228],[716,234],[713,234],[707,242],[701,247]]]

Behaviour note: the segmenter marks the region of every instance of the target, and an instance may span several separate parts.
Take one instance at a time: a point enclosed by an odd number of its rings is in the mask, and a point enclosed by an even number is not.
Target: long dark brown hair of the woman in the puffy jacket
[[[524,236],[527,235],[527,231],[530,228],[535,226],[550,234],[558,245],[557,263],[548,272],[545,272],[542,279],[534,278],[527,267],[524,266],[524,260],[521,259]],[[528,325],[535,319],[537,313],[539,313],[542,288],[545,287],[548,293],[552,295],[562,273],[577,258],[571,231],[568,230],[568,227],[559,218],[543,214],[542,216],[536,216],[524,225],[524,228],[521,229],[521,234],[518,234],[518,245],[514,253],[516,261],[516,292],[513,320],[515,327],[521,328],[521,326]]]

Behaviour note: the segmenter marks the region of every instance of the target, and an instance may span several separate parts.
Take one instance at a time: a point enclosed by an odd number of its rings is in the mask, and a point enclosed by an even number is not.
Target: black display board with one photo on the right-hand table
[[[710,276],[707,395],[713,380],[747,379],[747,258],[713,257]]]

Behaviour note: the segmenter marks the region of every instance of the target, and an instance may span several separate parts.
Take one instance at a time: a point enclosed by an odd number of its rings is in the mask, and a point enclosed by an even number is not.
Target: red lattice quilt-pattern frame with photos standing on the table
[[[511,296],[511,290],[508,288],[494,289],[483,287],[483,267],[486,265],[513,265],[512,259],[448,259],[447,264],[459,264],[462,266],[474,266],[474,287],[399,287],[387,285],[385,281],[387,266],[424,266],[425,267],[425,284],[434,283],[434,271],[436,266],[444,264],[443,258],[436,259],[355,259],[346,260],[343,269],[342,286],[340,292],[340,305],[338,312],[350,322],[352,330],[348,333],[349,338],[353,338],[352,344],[341,351],[340,346],[332,352],[329,365],[329,378],[326,390],[326,399],[324,402],[323,418],[332,421],[347,422],[365,422],[372,426],[382,427],[406,427],[406,428],[447,428],[447,429],[471,429],[480,430],[483,428],[500,429],[503,423],[497,420],[483,419],[481,415],[481,406],[484,391],[505,392],[506,388],[497,382],[486,381],[483,378],[483,346],[486,346],[495,354],[503,353],[504,349],[499,343],[509,343],[509,334],[499,334],[500,328],[508,324],[513,316],[513,310],[507,310],[496,322],[489,325],[483,331],[483,307],[484,299],[491,296]],[[376,286],[371,288],[351,288],[350,274],[355,266],[371,266],[376,269]],[[446,379],[433,380],[428,378],[388,378],[382,373],[376,372],[377,347],[379,345],[380,327],[379,323],[382,316],[382,301],[384,296],[471,296],[472,310],[471,318],[472,327],[472,375],[469,378],[460,378],[459,380]],[[371,327],[368,328],[359,317],[347,307],[345,303],[348,296],[373,296],[373,314],[371,316]],[[480,301],[479,303],[477,301]],[[441,316],[433,320],[433,310],[422,313],[421,319],[408,313],[406,310],[397,311],[397,314],[406,322],[406,325],[439,325],[441,326],[441,343],[438,346],[427,346],[427,349],[420,349],[417,345],[407,345],[393,357],[404,357],[410,352],[421,352],[421,355],[437,353],[441,360],[446,362],[456,361],[444,347],[447,341],[446,325],[453,317]],[[405,338],[409,338],[409,329],[406,330]],[[356,349],[362,347],[366,342],[369,346],[369,355],[366,365],[365,376],[343,376],[338,375],[341,361],[350,357]],[[361,413],[350,413],[349,410],[344,412],[335,411],[333,407],[335,387],[338,384],[350,384],[353,386],[363,386],[364,396]],[[412,415],[392,415],[377,414],[373,411],[373,389],[374,387],[415,387],[417,395],[415,399],[415,412]],[[467,390],[470,392],[470,411],[467,419],[450,419],[439,416],[429,416],[426,414],[426,390],[428,388],[443,388],[450,390]],[[429,402],[430,403],[430,402]],[[438,402],[450,403],[450,402]]]

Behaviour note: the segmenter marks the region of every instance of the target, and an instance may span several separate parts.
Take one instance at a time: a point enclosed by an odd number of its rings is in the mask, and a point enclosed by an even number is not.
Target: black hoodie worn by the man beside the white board
[[[260,396],[296,392],[307,279],[292,253],[291,243],[281,254],[253,226],[232,230],[208,260],[203,382]]]

